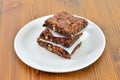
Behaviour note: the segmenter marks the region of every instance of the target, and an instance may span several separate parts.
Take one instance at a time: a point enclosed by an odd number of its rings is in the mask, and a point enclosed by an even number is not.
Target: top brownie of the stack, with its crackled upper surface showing
[[[63,11],[48,18],[43,26],[48,27],[63,36],[73,37],[79,31],[84,29],[87,24],[88,22],[85,19],[75,17],[72,14]]]

